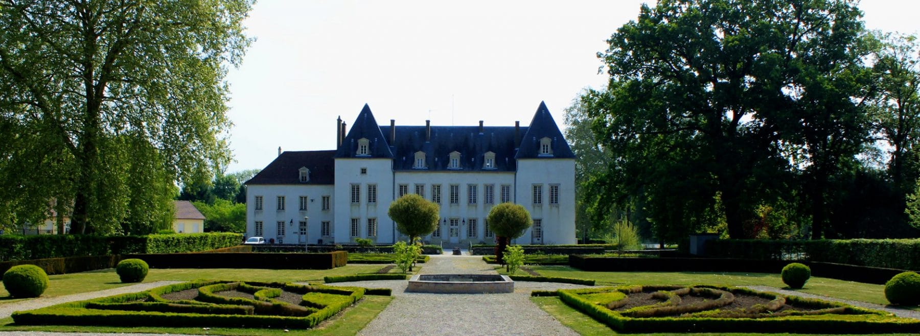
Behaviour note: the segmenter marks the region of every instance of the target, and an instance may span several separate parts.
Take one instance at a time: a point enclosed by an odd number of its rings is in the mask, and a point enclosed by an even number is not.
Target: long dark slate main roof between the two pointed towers
[[[390,127],[380,128],[384,134],[390,133]],[[395,171],[461,171],[461,172],[514,172],[514,127],[484,127],[479,133],[478,126],[432,126],[431,140],[425,141],[424,126],[397,126],[393,170]],[[527,128],[522,127],[521,133]],[[425,152],[427,169],[415,169],[415,153]],[[447,169],[450,154],[460,153],[459,170]],[[485,154],[495,153],[495,168],[483,169]]]

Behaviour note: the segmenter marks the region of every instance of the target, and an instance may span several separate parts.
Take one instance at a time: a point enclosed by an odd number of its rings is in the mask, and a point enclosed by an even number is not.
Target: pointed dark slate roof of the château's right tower
[[[549,138],[552,141],[551,149],[552,158],[555,159],[574,159],[575,154],[569,148],[569,141],[562,136],[562,132],[556,125],[556,120],[549,114],[546,103],[540,102],[536,108],[534,118],[530,120],[530,127],[521,137],[521,148],[517,152],[517,159],[530,159],[539,157],[540,139]]]

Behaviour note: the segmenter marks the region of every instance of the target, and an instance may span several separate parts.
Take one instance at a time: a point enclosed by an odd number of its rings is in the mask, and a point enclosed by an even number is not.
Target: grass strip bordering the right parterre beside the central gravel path
[[[615,334],[616,331],[611,330],[604,323],[598,322],[595,319],[592,319],[590,316],[582,314],[580,311],[575,308],[571,308],[566,305],[558,297],[531,297],[537,307],[543,309],[549,315],[552,315],[553,318],[558,319],[559,322],[562,322],[566,327],[575,330],[581,335],[610,335]],[[686,334],[673,334],[673,333],[653,333],[650,335],[686,335]],[[799,334],[789,334],[789,333],[695,333],[695,335],[737,335],[737,336],[746,336],[746,335],[770,335],[770,336],[779,336],[779,335],[799,335]],[[815,336],[817,334],[807,334],[810,336]],[[891,335],[891,334],[890,334]],[[910,334],[894,334],[894,335],[910,335]]]

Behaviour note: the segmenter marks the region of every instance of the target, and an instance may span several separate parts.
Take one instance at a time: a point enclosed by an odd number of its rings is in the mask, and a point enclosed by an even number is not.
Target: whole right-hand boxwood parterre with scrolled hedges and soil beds
[[[630,297],[642,293],[651,299],[627,305]],[[535,291],[532,295],[546,297],[554,293]],[[898,318],[887,312],[838,302],[787,297],[732,286],[594,287],[560,289],[555,295],[610,328],[628,333],[920,332],[920,320],[917,319]],[[681,297],[686,295],[698,298],[684,300],[682,304]],[[760,297],[764,303],[730,308],[736,296]]]

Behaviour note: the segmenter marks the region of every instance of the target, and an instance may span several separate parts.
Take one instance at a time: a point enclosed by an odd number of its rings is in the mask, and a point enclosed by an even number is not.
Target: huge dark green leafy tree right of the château
[[[788,203],[798,169],[822,204],[866,139],[851,99],[867,95],[861,32],[847,0],[642,6],[599,53],[607,88],[583,97],[617,156],[598,191],[634,197],[660,238],[722,220],[745,238],[757,208]],[[825,217],[811,211],[817,237]]]

